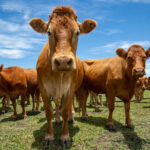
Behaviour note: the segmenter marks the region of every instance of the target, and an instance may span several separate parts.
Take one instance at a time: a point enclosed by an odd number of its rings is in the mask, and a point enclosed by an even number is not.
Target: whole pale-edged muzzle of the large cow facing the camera
[[[76,69],[75,64],[72,56],[56,56],[53,59],[52,69],[54,71],[72,71]]]

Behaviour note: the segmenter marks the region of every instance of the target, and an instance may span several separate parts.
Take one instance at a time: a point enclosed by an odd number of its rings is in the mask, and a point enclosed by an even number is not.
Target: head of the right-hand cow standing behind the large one
[[[119,48],[116,50],[116,53],[126,60],[132,76],[142,77],[145,75],[145,61],[150,57],[150,48],[145,51],[140,45],[132,45],[128,51]]]

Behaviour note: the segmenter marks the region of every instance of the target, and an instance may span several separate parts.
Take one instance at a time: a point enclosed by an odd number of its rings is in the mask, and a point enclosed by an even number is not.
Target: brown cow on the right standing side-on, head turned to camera
[[[150,48],[145,51],[139,45],[132,45],[128,51],[119,48],[116,53],[118,56],[113,58],[84,60],[85,74],[82,87],[96,93],[106,93],[109,107],[107,122],[109,130],[114,130],[112,114],[115,97],[123,100],[126,124],[133,129],[129,115],[130,101],[134,94],[136,80],[145,74],[145,60],[150,57]],[[84,88],[80,89],[80,95],[84,104],[82,115],[86,118],[87,91]]]

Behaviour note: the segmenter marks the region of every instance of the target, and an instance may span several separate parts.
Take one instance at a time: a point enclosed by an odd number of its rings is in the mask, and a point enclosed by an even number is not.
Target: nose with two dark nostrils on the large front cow
[[[70,70],[72,68],[73,59],[67,56],[61,56],[54,59],[54,65],[59,70]]]

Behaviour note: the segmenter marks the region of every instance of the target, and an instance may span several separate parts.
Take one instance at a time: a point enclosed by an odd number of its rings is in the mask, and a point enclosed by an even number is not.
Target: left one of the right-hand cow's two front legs
[[[113,93],[110,92],[110,95],[107,95],[107,102],[108,102],[108,108],[109,108],[109,116],[108,116],[108,121],[107,121],[107,126],[109,131],[115,131],[115,127],[113,124],[113,119],[112,119],[112,115],[113,115],[113,111],[114,111],[114,103],[115,103],[115,96],[113,96]]]

